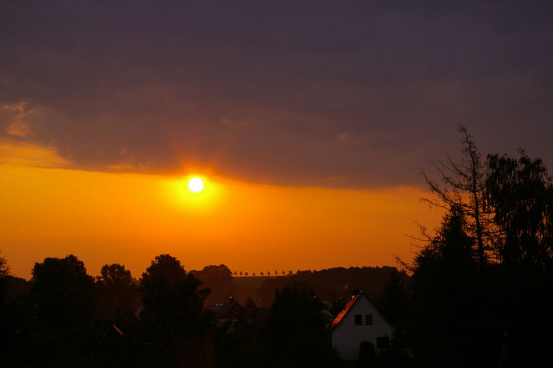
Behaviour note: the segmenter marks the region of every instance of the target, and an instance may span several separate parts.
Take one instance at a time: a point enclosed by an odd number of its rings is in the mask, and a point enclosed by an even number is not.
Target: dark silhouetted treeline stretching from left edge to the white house
[[[188,272],[178,259],[160,255],[140,279],[120,264],[106,264],[92,277],[81,260],[68,255],[36,263],[26,281],[10,276],[0,258],[1,365],[340,364],[319,313],[324,305],[312,291],[285,286],[270,308],[260,309],[250,298],[244,308],[221,319],[206,304],[212,293],[206,286],[214,287],[218,298],[226,297],[232,288],[227,266]]]

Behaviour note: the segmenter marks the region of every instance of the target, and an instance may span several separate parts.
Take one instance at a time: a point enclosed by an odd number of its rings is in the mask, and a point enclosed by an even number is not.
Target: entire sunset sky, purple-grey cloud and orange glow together
[[[133,275],[395,265],[420,169],[553,163],[550,1],[0,3],[0,254]],[[192,195],[186,180],[206,190]],[[259,270],[258,270],[259,268]]]

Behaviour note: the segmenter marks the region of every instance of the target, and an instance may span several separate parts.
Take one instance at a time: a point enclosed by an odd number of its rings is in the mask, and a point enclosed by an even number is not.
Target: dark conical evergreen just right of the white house
[[[423,365],[489,365],[498,356],[497,317],[489,314],[485,292],[490,291],[481,289],[466,228],[462,210],[454,205],[431,243],[415,257],[415,353]]]

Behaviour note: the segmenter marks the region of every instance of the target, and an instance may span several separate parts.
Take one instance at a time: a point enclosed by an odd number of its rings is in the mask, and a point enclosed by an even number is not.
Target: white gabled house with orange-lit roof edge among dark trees
[[[330,324],[330,341],[344,360],[358,360],[362,341],[376,349],[388,347],[394,329],[361,291],[351,297]]]

